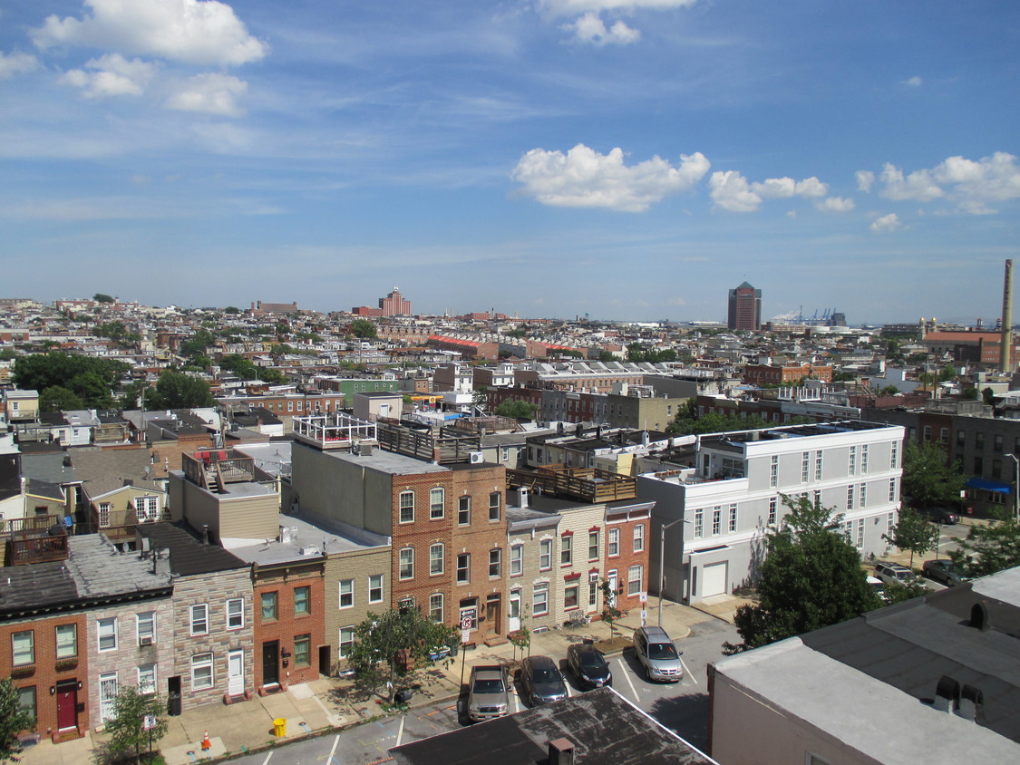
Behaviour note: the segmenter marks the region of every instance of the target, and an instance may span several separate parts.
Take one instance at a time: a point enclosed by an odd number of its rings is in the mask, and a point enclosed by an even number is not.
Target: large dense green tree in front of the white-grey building
[[[783,495],[782,503],[789,513],[766,540],[759,601],[736,610],[734,623],[744,642],[725,644],[726,653],[846,621],[880,605],[860,554],[838,530],[843,516],[807,497]]]

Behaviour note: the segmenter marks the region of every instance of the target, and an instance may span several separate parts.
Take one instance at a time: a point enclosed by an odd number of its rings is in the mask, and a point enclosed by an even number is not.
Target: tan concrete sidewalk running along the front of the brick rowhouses
[[[648,623],[658,620],[658,603],[652,599]],[[662,626],[673,640],[691,633],[691,625],[711,618],[680,604],[666,602],[662,611]],[[641,626],[640,612],[633,612],[613,624],[616,636],[629,639]],[[576,629],[550,629],[531,635],[531,655],[545,655],[559,660],[566,657],[567,647],[582,640],[601,641],[610,638],[610,627],[602,621]],[[526,652],[528,653],[528,652]],[[525,655],[526,655],[525,653]],[[437,664],[414,675],[415,687],[410,706],[456,700],[461,693],[461,671],[466,678],[470,668],[478,664],[510,664],[521,659],[521,652],[510,644],[489,648],[478,646],[458,655],[447,666]],[[270,696],[256,696],[251,701],[225,706],[206,704],[177,717],[167,717],[169,730],[157,744],[167,765],[191,765],[208,762],[227,755],[270,747],[284,741],[347,728],[376,716],[388,714],[381,698],[359,696],[351,680],[320,677],[312,682],[292,685]],[[287,735],[273,734],[273,720],[287,720]],[[208,731],[211,748],[202,751],[203,735]],[[53,745],[49,740],[29,747],[21,755],[23,765],[81,765],[91,761],[92,750],[103,740],[101,733],[89,731],[83,738]]]

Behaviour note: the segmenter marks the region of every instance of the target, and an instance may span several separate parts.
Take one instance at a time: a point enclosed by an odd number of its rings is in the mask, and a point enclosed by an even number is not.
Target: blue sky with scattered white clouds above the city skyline
[[[0,0],[0,297],[994,322],[1018,85],[1014,0]]]

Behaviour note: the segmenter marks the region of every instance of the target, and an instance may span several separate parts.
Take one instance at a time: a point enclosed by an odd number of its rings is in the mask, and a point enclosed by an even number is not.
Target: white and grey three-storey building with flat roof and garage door
[[[698,437],[693,467],[638,477],[639,499],[656,503],[650,591],[662,576],[663,525],[667,598],[695,603],[751,583],[766,534],[788,512],[780,495],[833,508],[862,556],[883,555],[900,506],[903,438],[899,425],[860,420]]]

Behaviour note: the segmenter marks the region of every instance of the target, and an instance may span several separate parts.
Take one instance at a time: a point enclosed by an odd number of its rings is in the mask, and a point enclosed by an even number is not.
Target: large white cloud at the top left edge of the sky
[[[39,48],[84,45],[197,64],[237,65],[265,56],[230,5],[216,0],[85,0],[81,19],[51,15],[33,32]]]

